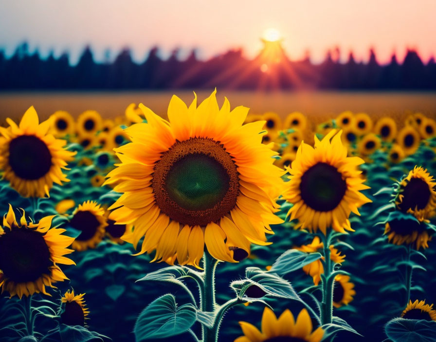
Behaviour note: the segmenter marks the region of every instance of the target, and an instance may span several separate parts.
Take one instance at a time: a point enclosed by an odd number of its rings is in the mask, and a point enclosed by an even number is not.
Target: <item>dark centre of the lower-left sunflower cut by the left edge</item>
[[[50,250],[41,233],[14,227],[0,237],[0,270],[12,281],[35,281],[51,274],[50,266]]]

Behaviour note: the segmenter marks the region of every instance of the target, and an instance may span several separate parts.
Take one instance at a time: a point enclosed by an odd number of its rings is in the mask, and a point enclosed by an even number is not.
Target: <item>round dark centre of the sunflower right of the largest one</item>
[[[327,163],[318,163],[301,177],[301,198],[316,211],[330,211],[341,203],[346,190],[342,174]]]

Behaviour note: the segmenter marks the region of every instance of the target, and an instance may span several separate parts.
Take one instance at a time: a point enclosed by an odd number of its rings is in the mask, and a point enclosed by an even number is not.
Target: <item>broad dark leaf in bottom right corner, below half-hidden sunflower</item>
[[[394,318],[384,327],[393,342],[436,342],[436,322]]]

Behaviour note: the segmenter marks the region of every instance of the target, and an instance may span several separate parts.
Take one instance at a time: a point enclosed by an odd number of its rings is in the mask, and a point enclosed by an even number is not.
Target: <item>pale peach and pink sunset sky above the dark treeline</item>
[[[10,54],[27,40],[43,55],[69,50],[72,62],[85,44],[100,60],[129,46],[142,61],[153,45],[163,55],[199,47],[201,58],[242,47],[252,57],[276,28],[291,59],[310,50],[319,62],[338,46],[343,60],[351,49],[367,60],[374,47],[382,63],[406,48],[427,61],[436,53],[435,13],[436,0],[1,0],[0,48]]]

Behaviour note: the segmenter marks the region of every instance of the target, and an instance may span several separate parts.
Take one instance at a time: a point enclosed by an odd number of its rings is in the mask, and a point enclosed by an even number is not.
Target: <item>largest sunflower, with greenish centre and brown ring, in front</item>
[[[234,262],[233,250],[266,242],[284,171],[261,143],[264,121],[242,125],[246,107],[218,107],[216,91],[197,107],[173,96],[167,122],[140,104],[147,123],[126,129],[132,142],[115,149],[121,160],[105,184],[124,192],[109,209],[117,224],[133,223],[123,239],[154,260],[199,267],[204,244],[218,260]],[[153,260],[153,261],[154,261]]]

